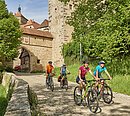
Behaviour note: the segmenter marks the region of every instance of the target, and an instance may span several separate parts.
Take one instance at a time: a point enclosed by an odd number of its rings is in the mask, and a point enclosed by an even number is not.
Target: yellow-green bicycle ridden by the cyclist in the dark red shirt
[[[74,89],[74,101],[77,105],[81,105],[83,100],[85,100],[86,106],[93,113],[96,113],[99,108],[98,97],[95,89],[93,89],[92,82],[96,80],[87,80],[88,85],[86,84],[86,91],[79,89],[79,85]],[[78,91],[80,90],[80,95]]]

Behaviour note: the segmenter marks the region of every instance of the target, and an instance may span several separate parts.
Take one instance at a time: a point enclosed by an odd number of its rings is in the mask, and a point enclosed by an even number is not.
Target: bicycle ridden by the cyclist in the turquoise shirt
[[[101,82],[102,80],[104,81]],[[113,92],[112,89],[105,82],[106,80],[110,79],[100,79],[100,82],[98,83],[98,86],[97,88],[95,88],[95,90],[97,91],[97,96],[99,100],[103,98],[103,101],[105,103],[110,104],[113,99]],[[99,85],[101,85],[102,87],[99,87]]]

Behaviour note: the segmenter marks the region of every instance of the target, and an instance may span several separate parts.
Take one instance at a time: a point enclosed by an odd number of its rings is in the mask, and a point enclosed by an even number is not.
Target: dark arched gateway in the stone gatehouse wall
[[[30,55],[27,49],[22,48],[20,54],[20,65],[21,69],[25,71],[30,71]]]

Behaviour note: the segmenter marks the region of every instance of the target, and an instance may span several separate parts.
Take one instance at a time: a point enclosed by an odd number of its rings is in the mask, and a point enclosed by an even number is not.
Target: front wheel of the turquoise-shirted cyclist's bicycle
[[[113,93],[109,86],[104,86],[102,97],[105,103],[110,104],[112,102]]]

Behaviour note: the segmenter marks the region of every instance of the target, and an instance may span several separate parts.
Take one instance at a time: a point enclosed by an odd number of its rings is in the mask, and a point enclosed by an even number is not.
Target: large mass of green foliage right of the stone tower
[[[83,55],[105,60],[113,75],[129,74],[129,17],[129,0],[80,0],[67,20],[74,32],[73,41],[63,47],[64,58],[77,58],[81,43]]]

